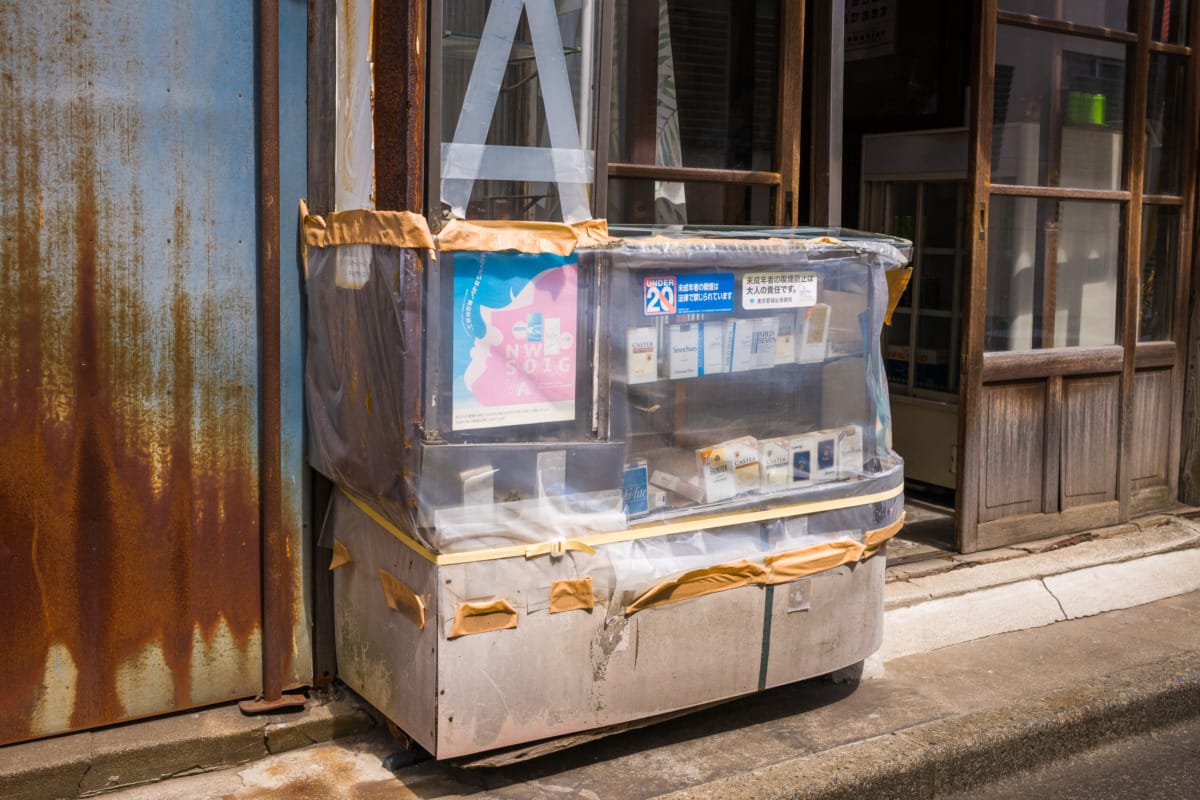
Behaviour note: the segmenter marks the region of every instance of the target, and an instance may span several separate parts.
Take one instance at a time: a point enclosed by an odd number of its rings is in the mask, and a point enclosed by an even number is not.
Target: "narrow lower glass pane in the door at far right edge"
[[[1141,284],[1138,341],[1175,338],[1175,273],[1180,263],[1180,210],[1147,205],[1141,211]]]

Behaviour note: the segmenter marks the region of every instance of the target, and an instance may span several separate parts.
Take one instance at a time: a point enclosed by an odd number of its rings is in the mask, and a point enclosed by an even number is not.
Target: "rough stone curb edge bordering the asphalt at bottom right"
[[[1200,652],[712,781],[658,800],[931,799],[1200,716]]]

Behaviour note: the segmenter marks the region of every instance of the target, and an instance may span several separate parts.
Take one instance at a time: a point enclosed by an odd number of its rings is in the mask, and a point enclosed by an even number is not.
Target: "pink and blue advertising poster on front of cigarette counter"
[[[454,257],[451,429],[575,419],[575,255]]]

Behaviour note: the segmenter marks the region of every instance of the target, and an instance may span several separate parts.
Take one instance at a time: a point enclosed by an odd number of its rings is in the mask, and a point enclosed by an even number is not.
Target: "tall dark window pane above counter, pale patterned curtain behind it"
[[[773,169],[779,6],[779,0],[618,0],[610,158]]]

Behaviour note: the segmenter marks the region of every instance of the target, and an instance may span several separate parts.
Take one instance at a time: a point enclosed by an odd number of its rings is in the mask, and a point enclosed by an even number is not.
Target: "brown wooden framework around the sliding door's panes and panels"
[[[1120,373],[1118,396],[1118,433],[1117,433],[1117,475],[1116,475],[1116,499],[1117,519],[1129,519],[1133,513],[1130,475],[1132,422],[1133,422],[1133,393],[1139,367],[1172,367],[1175,369],[1175,392],[1172,397],[1172,411],[1170,429],[1172,441],[1169,446],[1168,456],[1168,480],[1170,492],[1177,487],[1177,470],[1180,464],[1180,439],[1181,417],[1183,411],[1182,371],[1186,361],[1187,345],[1187,311],[1184,300],[1190,296],[1190,269],[1184,269],[1192,263],[1193,231],[1190,230],[1194,213],[1195,199],[1195,172],[1196,172],[1196,98],[1198,83],[1198,59],[1194,55],[1198,36],[1200,36],[1200,23],[1198,23],[1198,4],[1193,0],[1188,19],[1190,46],[1163,46],[1152,42],[1151,36],[1151,0],[1130,0],[1130,19],[1135,23],[1133,31],[1117,34],[1105,31],[1116,41],[1124,42],[1133,48],[1132,58],[1127,60],[1126,74],[1126,114],[1124,136],[1122,152],[1122,188],[1121,191],[1079,191],[1060,190],[1056,187],[1008,187],[1006,185],[991,185],[991,145],[992,145],[992,101],[995,90],[995,61],[996,61],[996,31],[998,24],[1013,24],[1033,26],[1032,18],[1021,14],[1013,14],[997,11],[997,0],[980,0],[976,6],[979,19],[974,25],[974,64],[972,70],[971,98],[971,150],[968,163],[968,222],[967,235],[971,241],[971,271],[967,281],[966,303],[967,320],[965,325],[965,337],[962,342],[962,369],[960,379],[960,409],[959,415],[959,451],[961,468],[958,474],[956,486],[956,515],[955,536],[958,549],[970,553],[983,547],[992,547],[1003,542],[989,541],[990,537],[980,537],[979,531],[979,499],[982,492],[982,459],[984,456],[983,441],[983,399],[985,380],[996,383],[1000,380],[1020,379],[1044,379],[1048,392],[1055,387],[1061,393],[1062,379],[1066,375],[1078,374],[1115,374]],[[1086,26],[1070,23],[1045,24],[1040,20],[1037,28],[1062,34],[1087,34],[1099,29],[1087,29]],[[1144,172],[1145,172],[1145,145],[1140,136],[1142,121],[1146,118],[1146,101],[1148,92],[1148,64],[1151,53],[1166,53],[1190,58],[1188,70],[1188,130],[1182,143],[1183,156],[1183,181],[1180,187],[1181,197],[1164,201],[1165,205],[1180,205],[1182,218],[1180,221],[1180,253],[1177,269],[1178,299],[1175,307],[1174,341],[1172,342],[1146,342],[1138,341],[1138,302],[1141,278],[1141,217],[1144,209]],[[1121,243],[1121,270],[1118,275],[1118,312],[1117,312],[1117,344],[1100,348],[1061,348],[1048,350],[1028,350],[1015,353],[984,353],[984,335],[986,323],[986,287],[988,287],[988,215],[991,198],[995,196],[1019,196],[1036,199],[1098,199],[1115,200],[1123,203],[1124,236]],[[1150,198],[1162,199],[1162,198]],[[1048,396],[1048,403],[1054,398]],[[1061,435],[1061,426],[1056,423],[1056,413],[1048,411],[1045,429],[1045,461],[1046,469],[1057,468],[1057,457],[1050,457],[1049,452],[1061,444],[1056,438]],[[1049,481],[1049,479],[1048,479]],[[1055,487],[1061,494],[1057,481]],[[1044,506],[1049,510],[1052,505],[1051,498],[1044,497]],[[1056,512],[1056,517],[1062,517],[1063,512]],[[1075,513],[1073,519],[1063,519],[1063,524],[1036,525],[1044,528],[1046,535],[1058,533],[1058,529],[1091,527],[1096,524],[1111,524],[1109,511],[1094,515]],[[1045,521],[1050,523],[1050,521]],[[1033,531],[1036,533],[1036,531]]]

